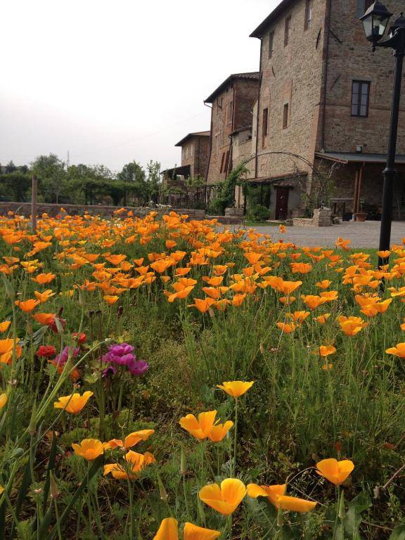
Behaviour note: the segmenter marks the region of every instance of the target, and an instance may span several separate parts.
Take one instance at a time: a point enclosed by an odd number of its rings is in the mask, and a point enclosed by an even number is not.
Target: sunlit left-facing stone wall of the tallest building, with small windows
[[[333,0],[336,1],[336,0]],[[314,157],[319,125],[324,54],[326,1],[313,2],[312,23],[305,28],[305,1],[296,1],[271,26],[262,38],[262,85],[259,96],[257,129],[257,176],[277,176],[297,169],[310,170],[301,160]],[[291,17],[291,33],[285,46],[285,20]],[[269,35],[273,33],[273,52],[269,58]],[[283,127],[284,105],[288,105],[288,125]],[[268,135],[264,136],[263,111],[269,110]]]

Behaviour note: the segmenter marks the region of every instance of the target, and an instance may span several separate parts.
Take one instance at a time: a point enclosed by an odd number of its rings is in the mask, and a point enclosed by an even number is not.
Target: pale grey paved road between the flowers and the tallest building
[[[277,226],[257,226],[257,231],[270,234],[275,240],[284,238],[297,245],[320,245],[332,248],[337,238],[352,240],[351,248],[375,248],[378,249],[380,238],[380,222],[366,221],[365,223],[344,222],[330,227],[286,227],[281,234]],[[394,221],[392,224],[392,244],[401,244],[405,238],[405,221]]]

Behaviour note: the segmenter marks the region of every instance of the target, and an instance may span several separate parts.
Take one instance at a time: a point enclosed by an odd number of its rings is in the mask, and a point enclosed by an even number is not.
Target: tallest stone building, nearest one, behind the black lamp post
[[[316,198],[331,167],[336,212],[378,218],[394,59],[391,49],[373,54],[366,41],[359,17],[371,3],[283,0],[251,34],[260,40],[260,77],[249,181],[271,189],[274,219],[301,212],[302,195]],[[404,0],[385,4],[395,15],[404,8]],[[404,102],[397,152],[394,214],[405,219]]]

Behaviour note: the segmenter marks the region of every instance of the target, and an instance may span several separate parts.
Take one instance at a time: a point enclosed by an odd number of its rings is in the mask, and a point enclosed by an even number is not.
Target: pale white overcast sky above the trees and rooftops
[[[259,68],[252,30],[279,0],[4,0],[0,163],[56,153],[113,170],[210,129],[204,98]]]

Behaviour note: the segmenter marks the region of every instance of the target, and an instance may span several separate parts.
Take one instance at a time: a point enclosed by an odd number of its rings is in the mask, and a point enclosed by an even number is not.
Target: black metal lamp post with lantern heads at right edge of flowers
[[[383,211],[381,214],[380,251],[390,250],[392,200],[394,198],[394,181],[397,175],[395,170],[395,156],[397,152],[397,135],[399,120],[399,103],[401,101],[402,69],[405,56],[405,17],[404,13],[392,25],[387,37],[384,37],[388,21],[392,13],[381,4],[374,2],[360,20],[364,24],[366,38],[373,44],[373,52],[377,47],[390,47],[394,49],[394,95],[392,96],[392,110],[390,123],[390,139],[388,143],[387,166],[384,174]],[[379,257],[378,266],[387,264],[388,257]]]

